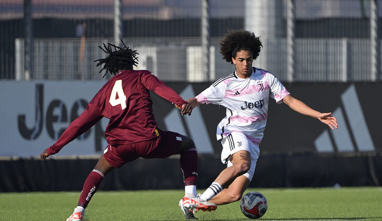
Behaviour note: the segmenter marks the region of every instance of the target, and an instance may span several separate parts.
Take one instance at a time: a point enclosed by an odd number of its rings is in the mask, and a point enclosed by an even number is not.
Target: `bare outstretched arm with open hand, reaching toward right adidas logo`
[[[308,105],[306,105],[304,102],[293,98],[290,94],[286,95],[285,98],[283,98],[283,102],[287,104],[292,110],[295,110],[300,114],[308,115],[313,118],[319,119],[322,123],[325,123],[330,128],[332,128],[332,130],[334,130],[334,128],[338,128],[337,119],[330,115],[332,113],[321,113],[317,110],[314,110]]]

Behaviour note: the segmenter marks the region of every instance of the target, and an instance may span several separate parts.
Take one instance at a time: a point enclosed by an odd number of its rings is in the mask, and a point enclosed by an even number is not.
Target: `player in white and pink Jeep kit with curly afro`
[[[227,115],[217,126],[216,134],[222,142],[221,160],[227,164],[227,168],[204,193],[197,196],[199,201],[216,205],[240,200],[251,182],[267,123],[270,98],[278,104],[287,104],[296,112],[320,120],[333,130],[338,127],[337,119],[331,113],[311,109],[293,98],[272,73],[252,67],[262,47],[259,37],[254,33],[232,31],[220,45],[223,59],[233,63],[236,71],[220,78],[195,98],[187,100],[193,108],[202,103],[227,108]],[[183,201],[186,200],[183,198]],[[192,206],[189,208],[192,210]]]

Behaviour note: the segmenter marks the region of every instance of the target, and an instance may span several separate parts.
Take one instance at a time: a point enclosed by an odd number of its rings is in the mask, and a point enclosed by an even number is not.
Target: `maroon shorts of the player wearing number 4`
[[[108,145],[104,151],[107,162],[119,168],[137,158],[167,158],[176,154],[182,143],[179,133],[158,130],[159,136],[151,140],[122,145]]]

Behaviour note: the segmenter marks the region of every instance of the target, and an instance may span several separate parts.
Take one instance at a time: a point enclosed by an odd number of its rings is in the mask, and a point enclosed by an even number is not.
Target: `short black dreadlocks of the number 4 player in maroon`
[[[121,39],[122,41],[122,39]],[[123,43],[123,47],[118,47],[114,44],[107,43],[107,46],[104,43],[103,49],[101,46],[98,46],[101,50],[103,50],[105,53],[109,54],[104,59],[97,59],[94,62],[97,63],[97,67],[99,65],[105,64],[104,67],[99,71],[101,73],[103,70],[106,70],[106,73],[102,78],[105,77],[107,72],[110,72],[110,74],[115,75],[115,73],[118,72],[118,70],[133,70],[133,65],[137,66],[138,64],[138,55],[136,50],[131,50],[129,47],[126,47],[125,43]],[[114,48],[114,51],[113,51]],[[118,50],[117,50],[118,49]]]

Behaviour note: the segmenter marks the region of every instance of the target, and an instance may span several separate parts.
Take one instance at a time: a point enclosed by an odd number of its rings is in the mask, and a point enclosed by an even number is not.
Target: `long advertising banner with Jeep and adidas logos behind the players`
[[[0,81],[1,156],[39,156],[86,108],[104,81]],[[210,83],[167,83],[182,98],[192,98]],[[382,94],[379,83],[293,83],[288,91],[317,110],[333,112],[338,129],[286,105],[269,103],[269,115],[261,151],[267,153],[380,153],[380,102],[370,94]],[[319,91],[320,93],[312,93]],[[330,98],[330,99],[323,99]],[[225,108],[200,105],[191,116],[181,116],[171,102],[152,94],[158,127],[189,136],[200,154],[220,154],[216,125],[225,116]],[[311,102],[313,101],[313,102]],[[317,104],[316,104],[317,103]],[[293,117],[285,117],[293,116]],[[290,120],[293,118],[293,124]],[[99,156],[106,148],[105,127],[108,119],[66,145],[52,157]],[[288,130],[280,132],[280,125]],[[277,136],[277,139],[275,139]],[[88,156],[86,156],[88,157]],[[91,156],[94,157],[94,156]]]

